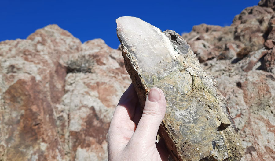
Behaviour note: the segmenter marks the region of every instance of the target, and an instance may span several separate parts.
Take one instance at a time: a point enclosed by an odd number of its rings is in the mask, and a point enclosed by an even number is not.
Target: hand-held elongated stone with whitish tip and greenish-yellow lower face
[[[175,161],[240,160],[243,147],[226,99],[178,33],[135,17],[120,17],[117,35],[126,69],[142,106],[152,87],[163,90],[167,111],[160,126]]]

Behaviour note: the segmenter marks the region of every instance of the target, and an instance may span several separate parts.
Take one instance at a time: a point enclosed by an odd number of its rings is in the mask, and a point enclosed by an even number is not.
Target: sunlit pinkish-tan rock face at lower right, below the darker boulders
[[[275,75],[261,71],[225,73],[218,89],[228,100],[240,133],[245,156],[242,161],[274,160]]]

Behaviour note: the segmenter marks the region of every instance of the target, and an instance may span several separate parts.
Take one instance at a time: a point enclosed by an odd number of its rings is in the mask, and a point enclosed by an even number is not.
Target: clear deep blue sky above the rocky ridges
[[[0,41],[25,39],[36,29],[57,24],[82,42],[101,38],[117,48],[116,19],[135,16],[161,30],[190,32],[201,23],[226,26],[235,15],[259,0],[184,0],[184,1],[72,1],[2,0]]]

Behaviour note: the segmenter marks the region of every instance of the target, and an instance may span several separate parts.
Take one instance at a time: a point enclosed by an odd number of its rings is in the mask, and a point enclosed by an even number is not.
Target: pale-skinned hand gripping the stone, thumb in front
[[[131,84],[121,96],[108,131],[108,161],[168,161],[162,139],[156,143],[166,111],[164,93],[152,88],[143,113]]]

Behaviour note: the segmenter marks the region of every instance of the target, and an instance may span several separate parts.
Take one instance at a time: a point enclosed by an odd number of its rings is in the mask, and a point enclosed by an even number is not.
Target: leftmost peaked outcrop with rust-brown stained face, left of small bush
[[[27,40],[0,43],[0,160],[66,159],[54,108],[64,95],[66,77],[58,60],[80,47],[57,25],[37,30]]]

